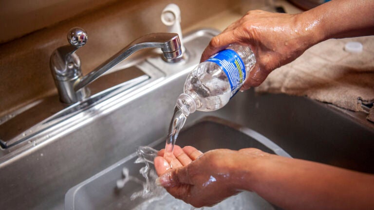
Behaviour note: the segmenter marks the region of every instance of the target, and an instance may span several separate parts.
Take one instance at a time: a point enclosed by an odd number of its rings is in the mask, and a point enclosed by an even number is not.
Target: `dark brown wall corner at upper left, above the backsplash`
[[[0,43],[112,1],[114,0],[0,0]]]

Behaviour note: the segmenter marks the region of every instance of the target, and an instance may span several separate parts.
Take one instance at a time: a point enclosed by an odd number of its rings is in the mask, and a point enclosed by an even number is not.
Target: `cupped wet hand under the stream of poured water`
[[[267,154],[252,148],[240,151],[217,149],[203,155],[191,146],[183,149],[175,146],[174,155],[179,163],[174,160],[174,168],[167,171],[169,165],[162,157],[162,150],[160,157],[154,160],[157,174],[161,175],[157,182],[171,195],[194,207],[212,206],[240,192],[243,181],[250,180],[243,175],[243,171],[250,169],[248,165],[244,165],[248,162],[243,160],[245,153],[252,157]],[[242,167],[246,169],[242,170]]]

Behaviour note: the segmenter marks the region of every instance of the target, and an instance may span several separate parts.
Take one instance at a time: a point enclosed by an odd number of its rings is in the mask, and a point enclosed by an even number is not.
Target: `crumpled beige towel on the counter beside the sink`
[[[351,41],[360,42],[363,51],[345,51],[345,44]],[[374,123],[374,36],[321,42],[271,72],[256,91],[307,96],[365,112]]]

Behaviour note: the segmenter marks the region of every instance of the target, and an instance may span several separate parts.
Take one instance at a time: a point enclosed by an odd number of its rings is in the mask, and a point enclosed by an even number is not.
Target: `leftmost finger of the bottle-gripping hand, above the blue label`
[[[211,55],[224,50],[228,45],[236,43],[238,41],[237,37],[233,35],[233,31],[228,31],[214,36],[203,54],[201,55],[200,62],[206,61]]]

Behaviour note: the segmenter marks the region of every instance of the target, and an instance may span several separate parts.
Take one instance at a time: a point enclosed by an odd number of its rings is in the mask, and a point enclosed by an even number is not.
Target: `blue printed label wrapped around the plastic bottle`
[[[242,87],[245,79],[245,66],[239,54],[233,50],[226,49],[214,54],[206,61],[216,63],[227,75],[231,86],[231,97]]]

